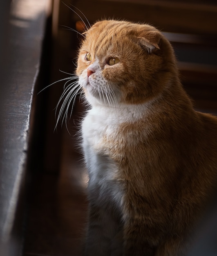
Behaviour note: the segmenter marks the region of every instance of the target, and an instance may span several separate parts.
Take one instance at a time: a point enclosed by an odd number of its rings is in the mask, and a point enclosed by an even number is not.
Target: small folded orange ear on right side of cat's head
[[[137,36],[139,45],[148,51],[149,54],[160,49],[161,34],[158,31],[148,31],[142,36]]]

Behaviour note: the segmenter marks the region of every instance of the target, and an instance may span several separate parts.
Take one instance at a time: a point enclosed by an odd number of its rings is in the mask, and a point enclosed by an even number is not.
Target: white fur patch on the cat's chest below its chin
[[[89,172],[89,198],[101,205],[109,201],[121,206],[123,197],[121,184],[116,180],[118,167],[109,154],[103,153],[107,150],[103,138],[120,137],[119,126],[141,119],[144,108],[144,105],[121,108],[95,106],[83,120],[83,150]]]

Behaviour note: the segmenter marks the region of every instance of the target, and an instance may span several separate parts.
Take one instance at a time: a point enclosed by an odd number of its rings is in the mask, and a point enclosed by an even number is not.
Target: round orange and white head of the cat
[[[157,29],[116,20],[85,32],[76,70],[89,103],[107,106],[149,101],[176,72],[172,47]]]

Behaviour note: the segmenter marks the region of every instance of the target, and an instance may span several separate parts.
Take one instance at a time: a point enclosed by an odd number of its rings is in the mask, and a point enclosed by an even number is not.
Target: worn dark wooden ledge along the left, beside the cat
[[[9,22],[9,4],[0,9],[0,255],[17,256],[22,249],[22,195],[46,1],[14,1]]]

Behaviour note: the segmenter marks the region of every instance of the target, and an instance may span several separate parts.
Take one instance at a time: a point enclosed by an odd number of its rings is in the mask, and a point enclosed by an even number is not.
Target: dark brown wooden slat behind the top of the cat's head
[[[217,6],[177,1],[80,0],[76,2],[90,22],[119,18],[148,22],[163,31],[193,34],[217,33]],[[74,15],[74,19],[78,16]]]

